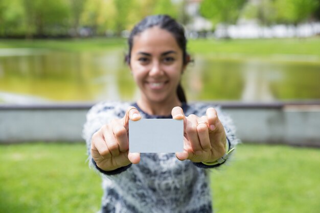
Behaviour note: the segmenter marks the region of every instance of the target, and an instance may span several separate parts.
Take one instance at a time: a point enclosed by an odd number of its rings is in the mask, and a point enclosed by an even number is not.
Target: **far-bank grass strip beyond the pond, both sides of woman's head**
[[[0,48],[45,48],[62,51],[104,51],[127,49],[124,38],[86,39],[0,39]],[[320,57],[320,37],[289,39],[190,39],[191,54],[216,57],[282,57],[281,55]]]

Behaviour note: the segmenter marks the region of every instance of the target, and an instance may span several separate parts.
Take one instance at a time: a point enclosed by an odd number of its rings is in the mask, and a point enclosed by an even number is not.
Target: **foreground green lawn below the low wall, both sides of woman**
[[[0,145],[0,212],[95,212],[101,181],[81,143]],[[215,212],[319,212],[320,150],[241,144],[211,172]]]

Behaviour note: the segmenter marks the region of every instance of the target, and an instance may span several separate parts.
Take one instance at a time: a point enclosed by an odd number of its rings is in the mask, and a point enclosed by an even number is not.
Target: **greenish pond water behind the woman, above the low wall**
[[[0,102],[135,100],[123,51],[0,52]],[[320,99],[320,62],[217,59],[195,55],[182,77],[194,100]]]

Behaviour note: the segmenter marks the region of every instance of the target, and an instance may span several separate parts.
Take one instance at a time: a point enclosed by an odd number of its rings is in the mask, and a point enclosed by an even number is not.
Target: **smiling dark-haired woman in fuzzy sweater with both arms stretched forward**
[[[90,164],[103,179],[102,212],[212,212],[209,168],[237,143],[231,120],[208,104],[188,104],[180,85],[190,62],[184,29],[170,16],[148,16],[128,39],[126,62],[141,97],[102,102],[84,126]],[[184,152],[131,153],[128,121],[184,120]],[[150,141],[152,142],[152,141]]]

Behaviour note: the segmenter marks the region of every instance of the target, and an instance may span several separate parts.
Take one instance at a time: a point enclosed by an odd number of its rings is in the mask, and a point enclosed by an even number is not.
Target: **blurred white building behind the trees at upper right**
[[[262,26],[256,19],[244,18],[240,18],[236,25],[218,24],[213,32],[210,20],[200,15],[201,2],[202,0],[186,0],[185,10],[189,16],[186,32],[189,38],[290,38],[320,35],[320,22],[303,23],[296,26],[280,24]],[[258,4],[259,0],[249,0],[248,2]]]

